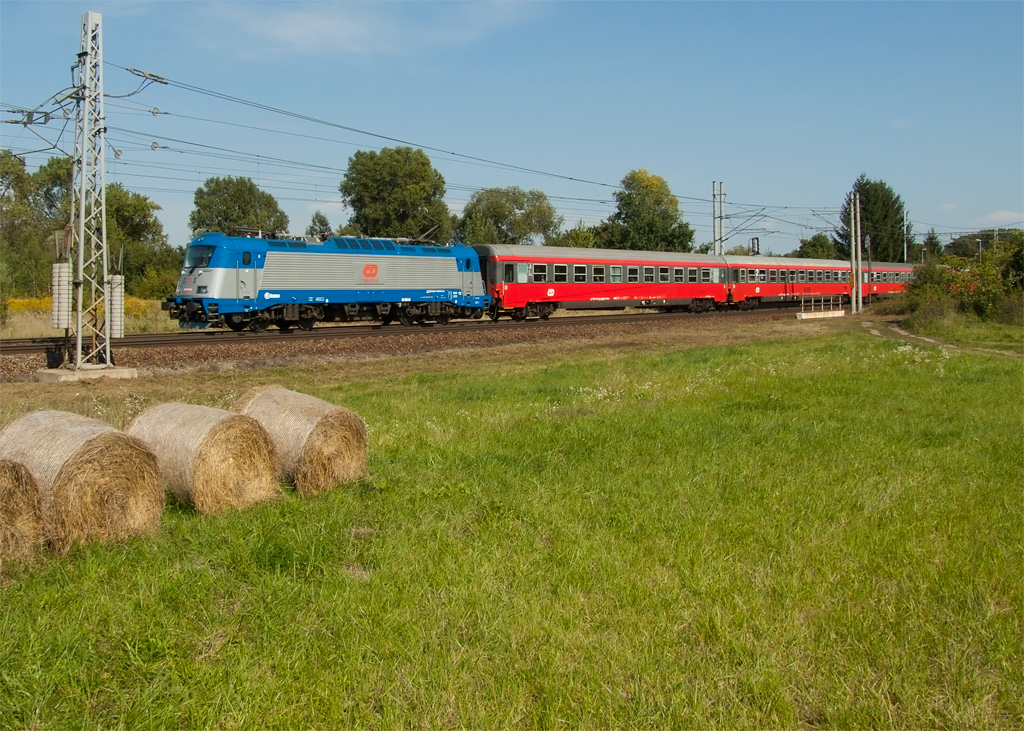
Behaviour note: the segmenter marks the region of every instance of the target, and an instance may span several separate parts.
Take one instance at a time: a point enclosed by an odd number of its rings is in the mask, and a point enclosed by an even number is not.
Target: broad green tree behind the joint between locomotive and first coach
[[[513,245],[541,238],[550,244],[557,238],[562,220],[541,190],[489,187],[469,199],[456,238],[469,244]]]

